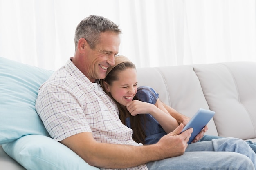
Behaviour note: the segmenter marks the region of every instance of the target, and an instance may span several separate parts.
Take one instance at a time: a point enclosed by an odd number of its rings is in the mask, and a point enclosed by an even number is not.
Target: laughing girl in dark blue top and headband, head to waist
[[[178,126],[164,108],[152,88],[137,89],[137,71],[127,57],[115,57],[106,78],[100,81],[103,90],[115,101],[123,124],[133,130],[133,139],[142,144],[154,144]]]

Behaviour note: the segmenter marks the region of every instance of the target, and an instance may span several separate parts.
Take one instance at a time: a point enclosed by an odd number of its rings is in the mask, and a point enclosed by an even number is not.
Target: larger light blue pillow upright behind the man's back
[[[52,73],[0,57],[0,144],[30,134],[49,136],[35,102],[38,88]]]

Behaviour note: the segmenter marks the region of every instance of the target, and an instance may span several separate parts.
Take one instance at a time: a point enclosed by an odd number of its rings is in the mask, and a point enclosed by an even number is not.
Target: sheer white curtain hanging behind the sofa
[[[256,62],[256,0],[0,0],[0,57],[56,70],[88,15],[119,24],[137,67]]]

